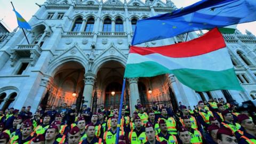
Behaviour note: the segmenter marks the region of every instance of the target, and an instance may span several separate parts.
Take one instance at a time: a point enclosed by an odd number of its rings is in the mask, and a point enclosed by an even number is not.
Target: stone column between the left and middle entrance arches
[[[92,73],[87,73],[84,77],[84,104],[87,105],[87,107],[91,108],[93,94],[92,91],[95,82],[95,75]]]

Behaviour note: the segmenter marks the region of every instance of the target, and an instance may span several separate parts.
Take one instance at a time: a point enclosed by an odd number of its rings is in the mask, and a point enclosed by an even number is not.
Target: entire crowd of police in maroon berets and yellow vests
[[[140,105],[130,117],[129,107],[98,113],[86,106],[77,114],[76,105],[66,103],[44,111],[40,106],[33,115],[30,106],[21,110],[0,110],[0,143],[256,143],[256,127],[246,110],[237,113],[236,106],[223,99],[199,101],[194,109],[181,105],[173,113],[170,106],[154,105],[147,112]]]

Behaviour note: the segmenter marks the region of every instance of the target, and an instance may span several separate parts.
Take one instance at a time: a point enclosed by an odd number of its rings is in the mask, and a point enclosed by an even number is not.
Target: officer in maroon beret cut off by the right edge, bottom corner
[[[245,114],[240,114],[237,116],[237,120],[244,128],[243,135],[239,139],[239,144],[256,143],[256,126],[252,119]]]

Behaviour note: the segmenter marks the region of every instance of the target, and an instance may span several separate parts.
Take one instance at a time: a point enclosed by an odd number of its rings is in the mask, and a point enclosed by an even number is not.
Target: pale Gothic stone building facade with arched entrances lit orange
[[[30,105],[35,111],[40,102],[47,106],[61,106],[63,102],[71,105],[82,96],[90,107],[97,106],[95,102],[118,106],[136,21],[175,9],[170,0],[46,1],[29,21],[33,28],[26,31],[30,44],[22,30],[0,41],[0,108]],[[186,36],[141,46],[174,44],[185,41]],[[196,37],[196,33],[189,33],[188,41]],[[244,92],[229,93],[238,103],[255,99],[256,37],[237,30],[224,38],[245,88]],[[221,91],[196,93],[173,75],[131,78],[125,91],[125,102],[132,110],[137,99],[142,104],[181,101],[194,106],[201,99],[224,97]]]

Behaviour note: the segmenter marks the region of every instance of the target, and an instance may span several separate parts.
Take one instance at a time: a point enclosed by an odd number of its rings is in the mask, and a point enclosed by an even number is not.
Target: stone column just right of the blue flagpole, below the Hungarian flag
[[[138,80],[139,78],[129,78],[129,86],[130,86],[130,109],[131,113],[135,111],[135,105],[137,105],[137,100],[139,97],[139,89],[138,89]]]

